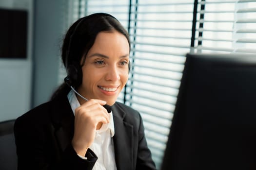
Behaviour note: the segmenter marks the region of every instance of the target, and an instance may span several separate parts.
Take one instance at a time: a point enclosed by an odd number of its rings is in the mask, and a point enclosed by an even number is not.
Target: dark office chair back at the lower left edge
[[[15,119],[0,122],[0,170],[17,170]]]

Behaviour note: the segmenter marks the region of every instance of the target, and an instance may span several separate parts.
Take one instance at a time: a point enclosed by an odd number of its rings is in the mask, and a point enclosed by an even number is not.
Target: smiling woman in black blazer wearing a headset
[[[18,170],[155,170],[138,111],[116,102],[129,52],[127,31],[109,14],[70,27],[65,84],[16,120]]]

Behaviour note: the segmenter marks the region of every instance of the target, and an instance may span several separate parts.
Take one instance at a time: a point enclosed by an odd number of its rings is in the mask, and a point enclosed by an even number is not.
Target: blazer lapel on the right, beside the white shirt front
[[[118,170],[133,169],[133,126],[125,121],[125,112],[117,104],[112,106],[115,125],[114,147]],[[125,147],[124,147],[125,146]]]

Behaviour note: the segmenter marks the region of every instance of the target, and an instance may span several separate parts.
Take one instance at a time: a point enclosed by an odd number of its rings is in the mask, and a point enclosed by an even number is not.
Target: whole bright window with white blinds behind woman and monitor
[[[74,0],[70,3],[73,11],[69,13],[74,16],[69,20],[106,12],[117,17],[129,31],[132,68],[118,101],[141,113],[158,169],[185,54],[256,53],[255,0]]]

